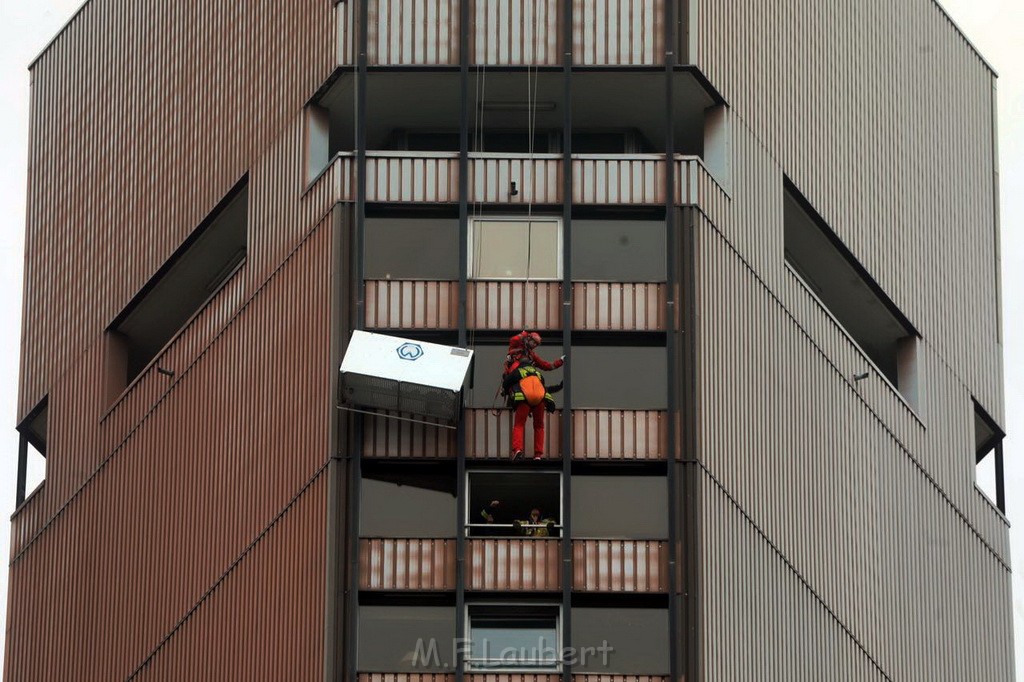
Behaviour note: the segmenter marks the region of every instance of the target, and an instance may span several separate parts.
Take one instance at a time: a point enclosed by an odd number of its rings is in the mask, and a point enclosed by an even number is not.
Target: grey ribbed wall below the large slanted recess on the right
[[[740,208],[751,228],[764,227]],[[1006,526],[974,491],[970,394],[925,344],[935,425],[926,433],[877,376],[853,380],[863,360],[830,317],[767,289],[721,232],[697,225],[698,456],[728,503],[702,512],[705,617],[719,633],[706,639],[709,674],[1009,679]],[[758,552],[765,558],[752,561]],[[806,604],[752,624],[735,590],[756,578],[768,594],[755,612],[798,603],[795,592]],[[953,604],[949,594],[967,596]],[[762,631],[795,642],[810,634],[834,653],[773,670],[765,662],[778,643]],[[743,656],[725,662],[733,648]],[[844,648],[851,655],[839,656]]]

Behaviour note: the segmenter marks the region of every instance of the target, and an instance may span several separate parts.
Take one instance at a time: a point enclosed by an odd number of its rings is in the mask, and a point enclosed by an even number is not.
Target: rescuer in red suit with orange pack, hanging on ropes
[[[502,376],[502,392],[512,408],[512,460],[523,456],[523,440],[526,419],[534,419],[534,459],[544,459],[545,413],[554,412],[555,399],[551,397],[562,389],[559,383],[547,388],[541,371],[557,370],[565,364],[565,355],[554,363],[548,363],[537,354],[541,345],[541,335],[537,332],[520,332],[509,339],[509,352],[505,356],[505,372]]]

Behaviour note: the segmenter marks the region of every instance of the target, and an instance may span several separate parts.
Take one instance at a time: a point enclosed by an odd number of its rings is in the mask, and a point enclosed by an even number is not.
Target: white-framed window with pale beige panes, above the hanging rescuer
[[[560,280],[561,220],[473,220],[469,231],[469,276],[474,280]]]

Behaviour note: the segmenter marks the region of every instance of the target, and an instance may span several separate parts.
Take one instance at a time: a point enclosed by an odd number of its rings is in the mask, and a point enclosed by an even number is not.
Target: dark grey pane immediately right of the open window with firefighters
[[[572,537],[669,538],[665,476],[572,476]]]

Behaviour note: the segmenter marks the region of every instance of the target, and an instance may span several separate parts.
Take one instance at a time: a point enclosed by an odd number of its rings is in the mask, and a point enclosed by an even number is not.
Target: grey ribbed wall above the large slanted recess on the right
[[[756,144],[1002,423],[989,67],[931,0],[694,17],[694,62]]]

